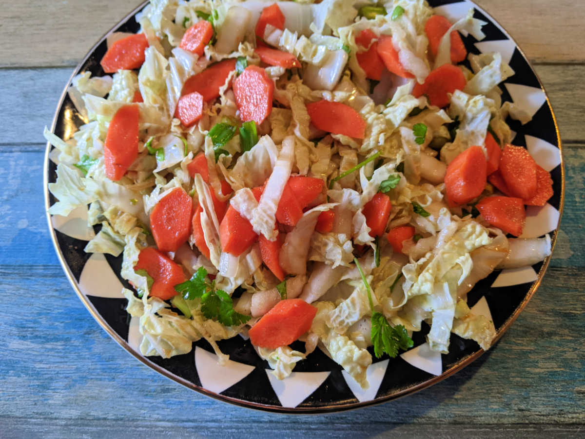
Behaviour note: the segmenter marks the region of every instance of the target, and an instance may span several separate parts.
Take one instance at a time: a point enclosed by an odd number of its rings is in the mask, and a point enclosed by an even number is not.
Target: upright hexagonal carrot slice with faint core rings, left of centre
[[[191,197],[177,187],[159,200],[150,213],[150,228],[161,252],[176,252],[189,237]]]

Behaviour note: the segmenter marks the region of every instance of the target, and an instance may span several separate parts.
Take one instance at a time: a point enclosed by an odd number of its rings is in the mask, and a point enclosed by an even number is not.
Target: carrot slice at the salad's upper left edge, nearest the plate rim
[[[147,47],[146,35],[143,33],[129,35],[113,43],[99,63],[105,73],[140,68],[144,63],[144,50]]]

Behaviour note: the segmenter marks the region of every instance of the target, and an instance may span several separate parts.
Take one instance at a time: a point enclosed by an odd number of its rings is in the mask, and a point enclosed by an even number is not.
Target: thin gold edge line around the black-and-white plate
[[[497,22],[497,20],[495,20],[493,18],[493,16],[491,16],[488,12],[486,12],[483,8],[481,8],[481,6],[477,5],[476,2],[474,2],[473,0],[462,0],[462,1],[466,1],[466,2],[469,2],[470,4],[472,4],[473,7],[475,9],[477,9],[477,11],[483,13],[483,15],[486,16],[486,18],[490,19],[491,23],[493,23],[495,26],[500,28],[500,30],[504,33],[504,35],[506,37],[508,37],[508,39],[510,39],[512,42],[514,42],[515,49],[517,49],[518,52],[521,54],[521,56],[526,60],[526,63],[528,64],[530,70],[532,71],[532,74],[534,74],[534,77],[538,81],[539,87],[541,88],[541,90],[545,94],[546,105],[548,105],[548,107],[550,109],[550,114],[551,114],[552,119],[553,119],[553,124],[555,125],[555,134],[556,134],[556,139],[558,142],[559,156],[560,156],[560,164],[559,164],[559,166],[560,166],[560,200],[559,200],[559,208],[558,208],[559,221],[558,221],[558,224],[556,225],[556,228],[553,231],[553,236],[551,238],[551,253],[549,256],[547,256],[543,260],[541,269],[537,273],[538,278],[534,281],[534,283],[532,283],[532,285],[531,285],[530,289],[528,290],[528,292],[526,293],[526,296],[524,297],[524,299],[521,301],[521,303],[518,305],[518,307],[514,310],[514,312],[510,315],[510,317],[508,317],[507,320],[497,330],[495,337],[492,341],[492,347],[493,347],[495,345],[495,343],[502,337],[502,335],[504,335],[504,332],[506,332],[508,330],[508,328],[510,328],[512,323],[514,323],[514,321],[518,318],[518,315],[524,310],[524,308],[526,307],[526,304],[528,304],[528,302],[532,299],[532,296],[534,296],[534,293],[536,292],[538,287],[541,285],[542,279],[546,273],[546,269],[548,269],[550,260],[552,259],[552,253],[553,253],[553,250],[555,248],[556,238],[558,236],[558,231],[560,229],[560,224],[561,224],[562,216],[563,216],[563,208],[565,205],[565,160],[563,159],[562,140],[560,138],[559,126],[557,123],[555,112],[553,111],[552,105],[550,104],[549,96],[545,90],[545,87],[542,84],[542,81],[539,78],[538,74],[534,70],[534,67],[532,67],[532,64],[528,60],[528,57],[526,57],[526,54],[521,49],[518,42],[510,35],[510,33],[506,29],[504,29],[504,27],[499,22]],[[95,52],[95,50],[97,49],[99,44],[104,42],[104,40],[109,35],[111,35],[111,33],[115,32],[116,29],[119,28],[119,26],[121,26],[123,23],[127,22],[130,18],[135,16],[136,13],[140,12],[148,3],[149,3],[148,0],[142,2],[135,9],[133,9],[132,12],[128,13],[128,15],[126,15],[121,20],[119,20],[115,25],[113,25],[112,28],[109,29],[108,32],[106,32],[101,38],[99,38],[97,43],[95,43],[94,46],[91,47],[91,49],[87,52],[87,54],[85,54],[85,56],[77,64],[77,66],[75,66],[74,71],[71,74],[71,76],[69,77],[67,84],[66,84],[66,86],[65,86],[65,88],[64,88],[64,90],[61,93],[61,96],[59,98],[59,102],[57,104],[57,109],[56,109],[55,114],[53,116],[53,121],[51,122],[51,132],[54,132],[54,130],[57,126],[57,120],[59,119],[61,107],[63,106],[64,100],[67,96],[67,90],[71,84],[71,81],[73,80],[73,77],[79,73],[79,71],[81,70],[81,67],[90,58],[90,56]],[[181,378],[181,376],[175,375],[174,373],[168,371],[166,368],[163,368],[162,366],[159,366],[156,363],[150,361],[150,359],[147,358],[146,356],[140,355],[138,352],[136,352],[135,349],[130,347],[129,343],[125,339],[123,339],[118,333],[116,333],[112,329],[112,327],[105,321],[104,317],[102,317],[102,315],[98,313],[98,311],[95,309],[94,305],[91,303],[91,301],[88,299],[88,297],[85,296],[81,292],[80,288],[78,287],[77,282],[75,281],[73,273],[71,272],[70,267],[67,265],[67,262],[64,258],[64,255],[63,255],[63,252],[61,251],[61,247],[59,245],[59,242],[57,241],[57,235],[55,233],[55,228],[53,227],[53,222],[51,221],[51,215],[49,214],[50,192],[49,192],[48,183],[49,183],[49,165],[50,165],[49,153],[50,153],[50,151],[51,151],[51,143],[47,142],[45,155],[44,155],[44,161],[43,161],[43,191],[44,191],[44,201],[45,201],[45,214],[47,217],[47,224],[49,225],[49,233],[51,236],[51,240],[53,241],[53,246],[54,246],[55,251],[57,253],[57,258],[59,259],[61,267],[63,267],[65,275],[67,276],[67,279],[69,280],[71,286],[73,286],[73,289],[75,290],[75,293],[77,294],[77,297],[81,300],[81,302],[84,304],[85,308],[87,308],[87,310],[90,312],[90,314],[95,319],[95,321],[97,321],[97,323],[102,327],[102,329],[104,329],[114,341],[116,341],[122,348],[124,348],[125,351],[127,351],[130,355],[134,356],[136,359],[138,359],[140,362],[142,362],[144,365],[148,366],[149,368],[153,369],[154,371],[160,373],[161,375],[165,376],[166,378],[168,378],[170,380],[173,380],[174,382],[177,382],[185,387],[188,387],[191,390],[195,390],[195,392],[201,393],[202,395],[205,395],[205,396],[212,397],[212,398],[214,398],[216,400],[220,400],[222,402],[234,404],[236,406],[246,407],[248,409],[255,409],[255,410],[260,410],[260,411],[269,411],[269,412],[273,412],[273,413],[285,413],[285,414],[334,413],[334,412],[338,412],[338,411],[347,411],[347,410],[359,409],[361,407],[374,406],[374,405],[386,403],[388,401],[395,400],[395,399],[398,399],[398,398],[401,398],[401,397],[404,397],[407,395],[412,395],[413,393],[417,393],[420,390],[426,389],[427,387],[431,387],[432,385],[435,385],[436,383],[441,382],[442,380],[448,378],[449,376],[453,375],[454,373],[459,372],[461,369],[468,366],[470,363],[475,361],[477,358],[479,358],[485,352],[483,349],[480,348],[476,352],[473,352],[473,354],[469,354],[469,355],[464,356],[463,358],[459,359],[459,361],[455,365],[453,365],[449,369],[446,369],[445,371],[443,371],[443,373],[441,373],[441,375],[434,376],[433,378],[428,379],[422,383],[419,383],[419,384],[414,385],[412,387],[408,387],[407,389],[399,390],[398,392],[395,392],[391,395],[381,396],[381,397],[374,398],[373,400],[369,400],[369,401],[364,401],[364,402],[358,401],[356,403],[346,403],[343,405],[330,405],[330,406],[321,406],[321,407],[302,407],[302,406],[301,407],[298,407],[298,406],[297,407],[279,407],[276,405],[261,404],[261,403],[256,403],[256,402],[247,401],[247,400],[243,400],[243,399],[237,399],[235,397],[221,395],[220,393],[215,393],[215,392],[212,392],[211,390],[205,389],[202,386],[197,386],[194,383],[190,382],[189,380]],[[194,351],[191,351],[191,352],[194,352]]]

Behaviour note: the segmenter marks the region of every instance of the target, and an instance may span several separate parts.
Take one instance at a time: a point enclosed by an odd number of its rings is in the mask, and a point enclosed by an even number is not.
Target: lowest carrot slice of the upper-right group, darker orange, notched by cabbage
[[[455,90],[463,90],[467,81],[463,71],[452,64],[443,64],[435,68],[425,78],[424,84],[415,84],[412,89],[412,95],[416,98],[426,94],[429,97],[431,105],[437,107],[446,107],[449,105],[448,93]]]

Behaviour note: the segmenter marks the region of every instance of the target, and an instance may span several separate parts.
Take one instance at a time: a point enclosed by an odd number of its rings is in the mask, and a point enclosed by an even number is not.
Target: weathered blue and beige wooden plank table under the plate
[[[380,406],[310,417],[192,392],[140,365],[85,310],[47,232],[42,131],[77,62],[137,2],[22,0],[0,8],[0,436],[582,435],[585,2],[479,4],[534,63],[559,121],[566,203],[548,273],[510,331],[455,376]]]

